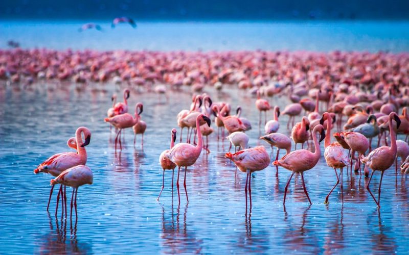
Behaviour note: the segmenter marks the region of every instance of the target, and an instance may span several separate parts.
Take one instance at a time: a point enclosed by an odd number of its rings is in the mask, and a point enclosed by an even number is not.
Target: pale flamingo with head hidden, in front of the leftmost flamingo
[[[93,184],[93,172],[89,167],[84,165],[78,165],[66,169],[62,173],[60,173],[55,179],[50,181],[50,185],[54,186],[56,184],[61,184],[64,186],[70,186],[73,188],[73,194],[71,196],[71,214],[70,218],[73,217],[73,198],[75,192],[75,199],[74,199],[74,207],[75,207],[75,217],[78,218],[77,215],[77,193],[78,187],[84,184]]]

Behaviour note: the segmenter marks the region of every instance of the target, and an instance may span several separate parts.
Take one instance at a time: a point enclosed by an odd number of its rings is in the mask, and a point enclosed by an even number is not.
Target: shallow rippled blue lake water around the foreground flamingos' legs
[[[130,106],[137,101],[144,104],[142,119],[148,125],[145,144],[141,148],[138,137],[134,148],[133,133],[126,130],[124,148],[116,155],[114,134],[103,119],[111,106],[112,92],[121,94],[123,88],[112,84],[78,89],[74,85],[44,84],[29,90],[1,88],[2,252],[407,252],[409,181],[400,173],[395,175],[394,167],[385,172],[378,210],[365,189],[368,180],[354,173],[351,177],[346,172],[343,196],[338,186],[330,204],[324,205],[336,177],[323,156],[305,173],[312,206],[297,176],[291,181],[283,207],[284,187],[290,172],[279,168],[276,177],[276,168],[269,166],[252,176],[253,209],[248,216],[244,196],[246,176],[224,158],[228,142],[217,142],[213,134],[210,154],[202,152],[196,164],[188,168],[189,204],[183,186],[180,205],[176,187],[172,199],[171,172],[166,172],[165,189],[161,200],[156,201],[162,184],[158,156],[169,147],[170,130],[177,127],[175,116],[189,107],[190,93],[170,93],[169,103],[165,103],[165,99],[158,99],[154,93],[133,89]],[[230,101],[233,108],[241,105],[242,116],[253,124],[248,132],[249,145],[266,145],[258,139],[255,98],[234,89],[229,94],[207,92],[214,101]],[[283,97],[272,102],[282,108],[288,103]],[[133,112],[133,107],[130,109]],[[268,116],[272,118],[272,112]],[[280,121],[280,132],[288,134],[287,117],[281,117]],[[57,192],[50,214],[47,213],[51,176],[35,175],[33,169],[51,155],[69,151],[66,140],[81,125],[92,132],[86,149],[94,184],[79,188],[78,220],[71,222],[61,218],[60,213],[57,218],[54,216]],[[371,182],[375,195],[379,178],[380,174],[376,173]],[[70,199],[71,189],[67,192]]]

